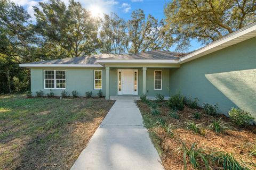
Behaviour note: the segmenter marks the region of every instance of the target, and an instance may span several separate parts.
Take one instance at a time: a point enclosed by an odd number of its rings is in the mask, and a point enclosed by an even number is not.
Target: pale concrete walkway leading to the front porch
[[[134,100],[115,102],[71,169],[163,169]]]

